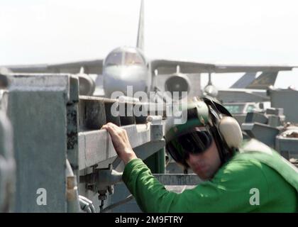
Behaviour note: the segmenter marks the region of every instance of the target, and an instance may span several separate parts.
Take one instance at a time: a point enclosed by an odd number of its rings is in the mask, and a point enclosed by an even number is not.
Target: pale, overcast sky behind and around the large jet
[[[298,65],[296,2],[145,0],[145,55]],[[140,0],[1,0],[0,65],[93,60],[134,46],[139,8]],[[238,77],[216,75],[214,84],[226,88]],[[291,84],[298,88],[298,70],[280,72],[277,87]]]

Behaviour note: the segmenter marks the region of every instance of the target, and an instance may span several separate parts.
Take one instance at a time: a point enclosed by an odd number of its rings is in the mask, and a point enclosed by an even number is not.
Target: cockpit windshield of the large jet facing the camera
[[[145,65],[145,60],[143,59],[143,56],[137,51],[118,50],[111,52],[109,56],[106,57],[105,65]]]

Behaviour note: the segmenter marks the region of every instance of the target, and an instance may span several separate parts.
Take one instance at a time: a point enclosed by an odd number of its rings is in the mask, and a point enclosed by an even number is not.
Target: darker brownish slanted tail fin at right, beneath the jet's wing
[[[267,89],[270,85],[275,84],[278,72],[263,72],[260,76],[253,80],[247,89]]]

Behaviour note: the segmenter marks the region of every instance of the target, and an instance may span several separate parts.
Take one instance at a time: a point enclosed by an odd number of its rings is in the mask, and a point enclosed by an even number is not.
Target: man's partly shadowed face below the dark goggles
[[[187,158],[186,162],[192,171],[201,179],[211,179],[214,177],[221,165],[219,152],[216,148],[214,140],[212,141],[211,146],[203,153],[189,153],[189,157]]]

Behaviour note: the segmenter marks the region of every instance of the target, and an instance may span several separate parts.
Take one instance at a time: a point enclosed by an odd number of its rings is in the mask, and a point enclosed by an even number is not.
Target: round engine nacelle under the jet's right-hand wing
[[[174,74],[172,77],[169,77],[165,81],[165,91],[171,92],[178,92],[179,99],[184,98],[182,96],[182,92],[189,92],[190,90],[190,82],[186,75],[184,74]]]

